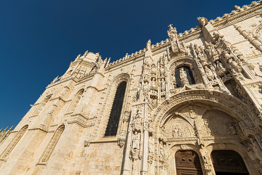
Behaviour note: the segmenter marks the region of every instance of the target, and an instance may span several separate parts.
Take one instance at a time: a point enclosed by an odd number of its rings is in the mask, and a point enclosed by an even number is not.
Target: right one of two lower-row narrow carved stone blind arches
[[[65,126],[61,125],[57,128],[57,130],[54,132],[53,137],[51,138],[50,142],[48,143],[45,151],[43,152],[40,161],[39,162],[47,162],[49,158],[51,157],[51,154],[54,151],[54,148],[57,145],[57,142],[59,141],[59,138],[61,137]]]

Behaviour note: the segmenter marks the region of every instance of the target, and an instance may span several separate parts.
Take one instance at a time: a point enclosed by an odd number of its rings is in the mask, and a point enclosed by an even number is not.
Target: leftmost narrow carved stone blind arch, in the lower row
[[[10,154],[10,152],[14,149],[15,145],[18,143],[18,141],[21,139],[21,137],[24,135],[27,129],[28,125],[25,125],[23,128],[20,129],[20,131],[18,131],[13,140],[9,143],[9,145],[1,154],[1,158],[6,158]]]

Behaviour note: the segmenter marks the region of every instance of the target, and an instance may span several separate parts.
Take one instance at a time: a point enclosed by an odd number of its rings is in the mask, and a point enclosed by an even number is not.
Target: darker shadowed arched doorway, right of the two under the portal
[[[215,150],[211,152],[211,159],[216,175],[248,174],[247,167],[242,157],[232,150]]]

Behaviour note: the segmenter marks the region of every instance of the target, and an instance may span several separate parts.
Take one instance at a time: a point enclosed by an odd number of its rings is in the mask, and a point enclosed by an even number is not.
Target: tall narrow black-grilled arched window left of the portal
[[[121,110],[123,106],[126,86],[127,86],[127,82],[122,81],[116,88],[116,95],[114,97],[114,101],[109,115],[104,137],[116,136]]]

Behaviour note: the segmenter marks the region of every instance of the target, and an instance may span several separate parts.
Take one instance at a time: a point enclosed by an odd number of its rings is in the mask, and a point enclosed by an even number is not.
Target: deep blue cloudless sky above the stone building
[[[111,61],[252,1],[1,1],[0,129],[17,125],[86,50]]]

